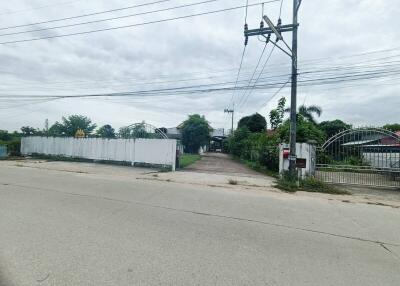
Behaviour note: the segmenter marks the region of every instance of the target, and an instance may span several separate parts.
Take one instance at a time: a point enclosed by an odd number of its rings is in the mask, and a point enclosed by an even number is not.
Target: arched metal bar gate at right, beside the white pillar
[[[368,127],[336,134],[317,150],[315,176],[335,184],[400,187],[399,133]]]

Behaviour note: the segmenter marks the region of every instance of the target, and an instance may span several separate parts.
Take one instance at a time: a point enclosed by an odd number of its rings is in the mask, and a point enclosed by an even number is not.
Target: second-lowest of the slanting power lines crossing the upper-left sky
[[[170,1],[170,0],[168,0],[168,1]],[[192,7],[192,6],[197,6],[197,5],[202,5],[202,4],[211,3],[211,2],[217,2],[217,1],[220,1],[220,0],[207,0],[207,1],[202,1],[202,2],[179,5],[179,6],[163,8],[163,9],[157,9],[157,10],[152,10],[152,11],[145,11],[145,12],[140,12],[140,13],[135,13],[135,14],[130,14],[130,15],[106,18],[106,19],[99,19],[99,20],[93,20],[93,21],[87,21],[87,22],[80,22],[80,23],[73,23],[73,24],[60,25],[60,26],[54,26],[54,27],[33,29],[33,30],[27,30],[27,31],[5,33],[5,34],[0,34],[0,37],[11,36],[11,35],[20,35],[20,34],[28,34],[28,33],[33,33],[33,32],[49,31],[49,30],[54,30],[54,29],[69,28],[69,27],[76,27],[76,26],[82,26],[82,25],[88,25],[88,24],[95,24],[95,23],[107,22],[107,21],[118,20],[118,19],[132,18],[132,17],[136,17],[136,16],[154,14],[154,13],[165,12],[165,11],[172,11],[172,10],[177,10],[177,9],[182,9],[182,8],[187,8],[187,7]]]

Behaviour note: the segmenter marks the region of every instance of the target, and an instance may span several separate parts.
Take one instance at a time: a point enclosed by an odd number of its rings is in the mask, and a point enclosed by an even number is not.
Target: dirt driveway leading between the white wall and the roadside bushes
[[[237,176],[260,176],[260,173],[248,168],[247,166],[235,162],[228,155],[222,153],[206,153],[200,161],[185,168],[186,171],[229,174]]]

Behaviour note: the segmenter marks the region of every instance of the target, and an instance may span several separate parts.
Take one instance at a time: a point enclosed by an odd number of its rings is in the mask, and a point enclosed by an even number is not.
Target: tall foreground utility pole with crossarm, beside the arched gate
[[[296,133],[297,133],[297,30],[298,12],[302,0],[293,0],[293,23],[290,25],[282,25],[281,19],[275,26],[268,16],[264,15],[263,19],[267,23],[268,28],[264,28],[261,22],[260,28],[249,30],[247,24],[244,29],[246,42],[251,36],[263,36],[266,43],[271,43],[291,58],[292,62],[292,86],[291,86],[291,102],[290,102],[290,153],[289,153],[289,173],[291,178],[296,178]],[[292,47],[285,42],[282,33],[292,32]],[[275,34],[276,40],[271,40],[271,35]],[[281,41],[285,45],[281,47],[278,42]]]

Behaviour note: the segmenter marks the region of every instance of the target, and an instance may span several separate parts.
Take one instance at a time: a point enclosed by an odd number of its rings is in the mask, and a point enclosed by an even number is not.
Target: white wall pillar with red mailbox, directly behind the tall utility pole
[[[289,171],[290,145],[279,145],[279,175]],[[316,146],[308,143],[296,143],[296,167],[299,179],[315,175]]]

